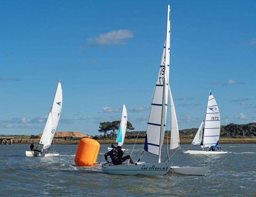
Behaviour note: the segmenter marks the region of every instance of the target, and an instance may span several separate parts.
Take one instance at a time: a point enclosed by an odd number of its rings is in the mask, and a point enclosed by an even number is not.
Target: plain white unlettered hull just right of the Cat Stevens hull
[[[210,166],[206,167],[178,167],[178,166],[172,166],[168,172],[174,172],[178,174],[185,174],[185,175],[196,175],[196,176],[204,176],[208,170],[210,169]]]

